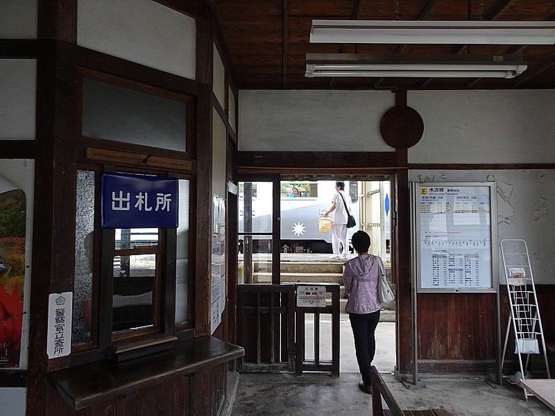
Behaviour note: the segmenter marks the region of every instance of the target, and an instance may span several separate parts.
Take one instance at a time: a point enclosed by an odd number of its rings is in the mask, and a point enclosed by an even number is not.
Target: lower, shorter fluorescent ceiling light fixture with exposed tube
[[[514,78],[526,69],[520,55],[307,53],[305,76]]]

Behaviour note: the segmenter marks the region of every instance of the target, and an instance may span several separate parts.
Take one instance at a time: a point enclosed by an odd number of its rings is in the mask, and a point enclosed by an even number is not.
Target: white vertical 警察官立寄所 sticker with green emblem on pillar
[[[72,292],[51,293],[48,297],[48,335],[46,354],[58,358],[71,352],[71,309],[74,304]]]

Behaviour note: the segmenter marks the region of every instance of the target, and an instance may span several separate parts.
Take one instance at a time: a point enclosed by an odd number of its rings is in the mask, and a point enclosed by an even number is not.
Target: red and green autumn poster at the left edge
[[[0,367],[20,365],[25,239],[25,193],[0,177]]]

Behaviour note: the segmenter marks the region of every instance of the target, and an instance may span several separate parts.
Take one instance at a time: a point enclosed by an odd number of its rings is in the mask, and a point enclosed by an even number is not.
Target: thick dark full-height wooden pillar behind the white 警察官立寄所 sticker
[[[27,415],[46,413],[46,374],[67,362],[49,361],[46,335],[49,293],[73,291],[76,22],[76,1],[39,1]]]

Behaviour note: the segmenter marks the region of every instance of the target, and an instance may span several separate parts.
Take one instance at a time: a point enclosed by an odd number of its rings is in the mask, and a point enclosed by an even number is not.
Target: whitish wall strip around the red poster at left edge
[[[0,159],[0,177],[17,189],[22,189],[27,202],[27,227],[25,240],[25,283],[23,294],[22,353],[19,368],[28,367],[29,301],[31,298],[31,248],[33,247],[33,202],[35,200],[35,161],[33,159]],[[2,389],[0,388],[0,391]],[[3,401],[0,400],[0,403]],[[9,413],[8,413],[9,414]]]

